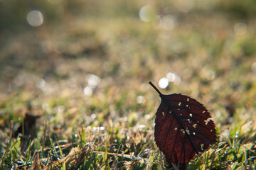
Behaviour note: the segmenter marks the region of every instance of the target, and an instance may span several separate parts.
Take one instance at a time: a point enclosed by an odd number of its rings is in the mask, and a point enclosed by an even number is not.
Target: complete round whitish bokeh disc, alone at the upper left
[[[29,11],[26,16],[26,20],[31,26],[41,26],[43,24],[43,13],[38,10]]]

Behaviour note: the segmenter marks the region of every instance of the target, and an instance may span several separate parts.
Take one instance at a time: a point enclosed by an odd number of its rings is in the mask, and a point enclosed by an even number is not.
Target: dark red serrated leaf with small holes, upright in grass
[[[195,154],[216,142],[216,130],[208,110],[195,99],[182,94],[159,93],[161,104],[156,111],[154,137],[156,145],[172,164],[186,169]]]

